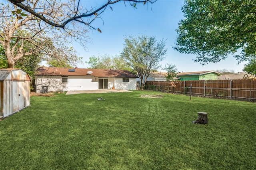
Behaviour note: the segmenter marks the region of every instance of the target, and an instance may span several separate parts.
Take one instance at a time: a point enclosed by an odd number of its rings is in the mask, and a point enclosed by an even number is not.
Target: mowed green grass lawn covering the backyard
[[[255,108],[153,91],[32,96],[0,121],[0,169],[255,169]],[[192,123],[198,111],[209,124]]]

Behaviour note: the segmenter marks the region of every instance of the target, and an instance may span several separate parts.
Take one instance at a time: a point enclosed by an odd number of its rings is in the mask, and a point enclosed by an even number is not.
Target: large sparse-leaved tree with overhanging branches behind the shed
[[[100,18],[104,10],[111,4],[125,0],[107,0],[99,8],[87,9],[80,5],[80,0],[8,0],[9,3],[1,4],[0,9],[0,43],[5,49],[8,67],[26,55],[41,53],[46,61],[65,61],[69,65],[80,62],[76,51],[70,50],[65,44],[73,41],[85,47],[88,42],[87,28],[96,29],[91,23]],[[156,0],[126,0],[136,7],[137,3],[154,3]],[[86,27],[84,27],[84,25]],[[54,28],[55,27],[55,28]],[[20,36],[18,32],[26,30],[27,36]],[[97,29],[99,32],[101,30]],[[16,34],[16,36],[14,36]],[[11,46],[10,42],[16,38],[20,47]],[[24,51],[24,43],[28,41],[35,48]],[[15,43],[16,44],[16,43]]]

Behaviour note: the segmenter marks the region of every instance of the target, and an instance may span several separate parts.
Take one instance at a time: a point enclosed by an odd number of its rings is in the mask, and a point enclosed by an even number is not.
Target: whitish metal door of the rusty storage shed
[[[12,83],[12,111],[18,111],[25,107],[24,82],[13,81]]]

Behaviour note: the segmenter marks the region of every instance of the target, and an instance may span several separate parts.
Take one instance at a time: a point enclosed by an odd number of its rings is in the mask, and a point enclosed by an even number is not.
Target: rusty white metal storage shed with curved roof
[[[0,69],[0,118],[30,106],[30,78],[21,69]]]

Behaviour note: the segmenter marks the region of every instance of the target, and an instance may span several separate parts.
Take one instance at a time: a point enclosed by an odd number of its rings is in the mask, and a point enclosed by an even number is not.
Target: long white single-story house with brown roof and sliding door
[[[36,93],[98,89],[136,90],[136,75],[125,70],[39,67]]]

